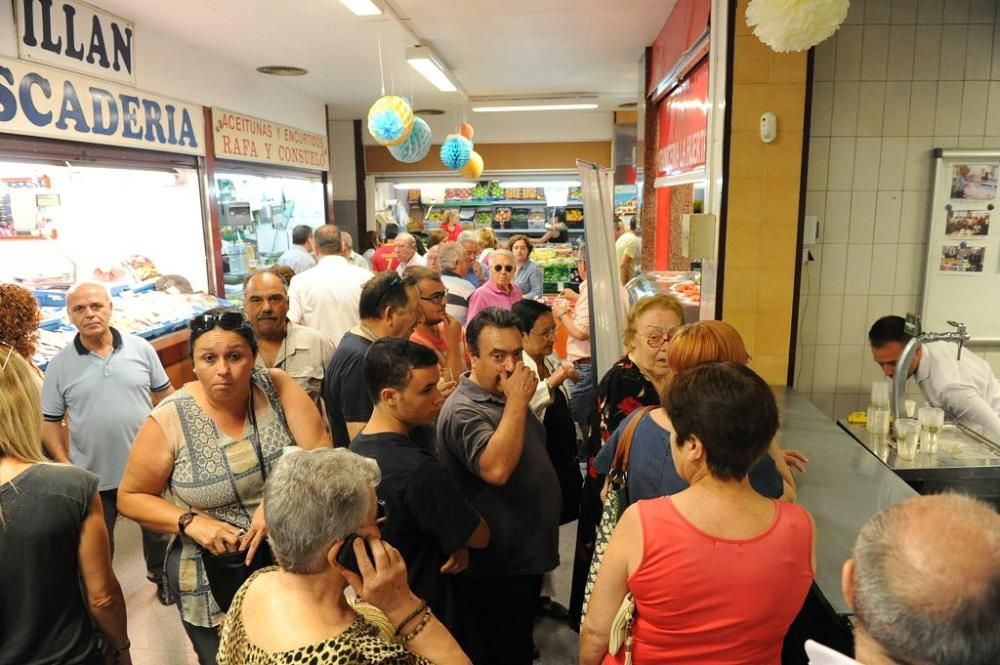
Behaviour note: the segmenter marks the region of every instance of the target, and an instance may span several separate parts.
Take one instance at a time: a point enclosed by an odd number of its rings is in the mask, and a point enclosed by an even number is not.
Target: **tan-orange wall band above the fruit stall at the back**
[[[368,173],[414,173],[444,171],[441,146],[431,146],[425,158],[415,164],[397,161],[382,146],[365,146],[365,170]],[[573,141],[566,143],[477,143],[487,171],[523,169],[575,169],[577,159],[596,164],[611,163],[610,141]]]

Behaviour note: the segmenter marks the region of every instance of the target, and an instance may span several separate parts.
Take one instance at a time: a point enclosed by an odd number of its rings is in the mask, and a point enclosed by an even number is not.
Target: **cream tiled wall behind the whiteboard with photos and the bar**
[[[1000,148],[998,2],[852,0],[816,48],[812,95],[806,214],[820,239],[795,386],[843,416],[879,376],[868,326],[919,308],[932,148]],[[975,350],[1000,368],[1000,351]]]

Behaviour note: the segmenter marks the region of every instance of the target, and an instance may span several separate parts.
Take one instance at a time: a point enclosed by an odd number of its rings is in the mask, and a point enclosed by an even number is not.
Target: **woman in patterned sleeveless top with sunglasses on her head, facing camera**
[[[190,329],[197,381],[157,405],[139,430],[118,508],[147,529],[178,534],[167,583],[199,663],[211,665],[224,615],[203,553],[246,552],[251,563],[267,536],[265,476],[286,446],[330,440],[304,390],[281,370],[255,369],[257,340],[241,311],[209,310]],[[174,502],[162,498],[168,489]]]

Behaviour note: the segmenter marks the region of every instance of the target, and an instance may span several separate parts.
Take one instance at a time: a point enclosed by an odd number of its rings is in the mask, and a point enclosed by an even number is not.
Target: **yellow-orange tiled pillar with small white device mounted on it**
[[[798,243],[806,53],[778,54],[746,25],[740,0],[733,54],[732,133],[722,318],[736,326],[753,367],[784,385],[789,364]],[[778,138],[760,140],[760,116]]]

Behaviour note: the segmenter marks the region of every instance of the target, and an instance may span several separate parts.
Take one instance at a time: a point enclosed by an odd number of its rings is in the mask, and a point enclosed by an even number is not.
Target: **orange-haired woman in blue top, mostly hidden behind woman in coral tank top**
[[[725,321],[698,321],[674,329],[667,335],[667,364],[670,376],[707,362],[750,362],[743,338],[736,328]],[[669,390],[669,387],[668,387]],[[622,421],[595,458],[599,473],[606,475],[618,448],[622,433],[633,414]],[[656,408],[644,413],[636,424],[629,449],[628,478],[626,481],[627,504],[642,499],[669,496],[687,489],[687,482],[680,477],[670,458],[670,430],[667,412]],[[773,499],[792,501],[795,498],[795,481],[775,442],[750,469],[750,484],[761,495]],[[787,479],[786,479],[787,478]],[[607,481],[605,481],[607,482]]]

